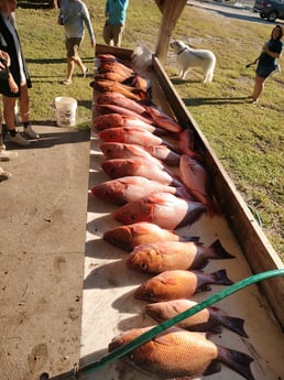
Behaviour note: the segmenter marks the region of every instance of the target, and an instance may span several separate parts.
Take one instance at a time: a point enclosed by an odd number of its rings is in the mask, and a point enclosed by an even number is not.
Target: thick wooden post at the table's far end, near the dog
[[[168,44],[171,41],[172,32],[176,25],[176,22],[182,14],[187,0],[155,0],[157,7],[160,8],[162,15],[162,21],[160,25],[159,39],[156,44],[155,54],[160,62],[164,64],[166,62],[166,55],[168,51]]]

